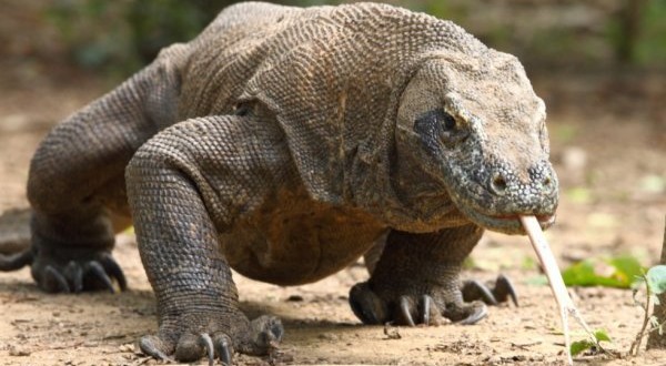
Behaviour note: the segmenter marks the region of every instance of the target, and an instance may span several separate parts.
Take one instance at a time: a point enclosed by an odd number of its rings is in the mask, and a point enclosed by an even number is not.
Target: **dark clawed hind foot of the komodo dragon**
[[[122,270],[109,251],[89,247],[32,250],[32,277],[49,293],[127,289]],[[113,279],[112,279],[113,278]]]

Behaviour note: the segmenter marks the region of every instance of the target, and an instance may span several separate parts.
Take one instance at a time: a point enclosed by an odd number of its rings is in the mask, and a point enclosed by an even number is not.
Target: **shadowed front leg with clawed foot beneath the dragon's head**
[[[351,289],[352,309],[367,324],[436,324],[442,316],[478,322],[486,305],[476,299],[493,303],[494,296],[471,282],[461,291],[460,272],[482,233],[474,224],[428,234],[391,231],[379,261],[371,261],[370,281]],[[481,294],[467,296],[474,291]]]

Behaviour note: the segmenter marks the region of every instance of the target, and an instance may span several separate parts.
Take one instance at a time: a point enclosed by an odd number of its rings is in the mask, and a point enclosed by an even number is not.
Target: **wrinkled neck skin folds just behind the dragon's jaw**
[[[408,146],[396,145],[395,121],[402,95],[418,68],[436,57],[424,54],[400,72],[384,122],[372,140],[361,142],[347,175],[353,177],[347,186],[355,205],[405,232],[428,233],[470,223],[442,182],[424,170],[420,157]]]

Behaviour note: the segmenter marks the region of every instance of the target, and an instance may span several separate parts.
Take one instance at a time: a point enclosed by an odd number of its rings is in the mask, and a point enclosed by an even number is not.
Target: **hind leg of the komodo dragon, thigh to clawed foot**
[[[169,50],[40,143],[28,177],[31,247],[0,257],[0,270],[30,264],[34,281],[51,293],[127,287],[111,255],[115,231],[130,223],[124,169],[139,146],[175,119],[168,106],[175,104],[179,58],[176,48]]]

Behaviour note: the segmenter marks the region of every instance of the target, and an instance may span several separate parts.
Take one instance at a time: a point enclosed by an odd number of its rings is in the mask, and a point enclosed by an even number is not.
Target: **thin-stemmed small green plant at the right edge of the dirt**
[[[645,302],[642,302],[636,298],[636,295],[644,285]],[[662,334],[664,332],[664,323],[659,323],[656,316],[649,315],[649,309],[652,306],[659,304],[659,298],[657,296],[666,292],[666,265],[656,265],[649,268],[647,273],[638,276],[633,288],[634,302],[643,308],[644,312],[643,326],[640,327],[640,331],[638,331],[638,334],[636,334],[636,339],[634,339],[632,347],[629,348],[629,355],[636,356],[640,348],[640,342],[647,333],[659,332],[659,334]]]

